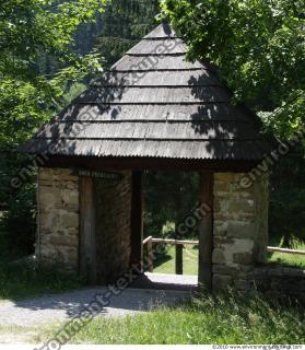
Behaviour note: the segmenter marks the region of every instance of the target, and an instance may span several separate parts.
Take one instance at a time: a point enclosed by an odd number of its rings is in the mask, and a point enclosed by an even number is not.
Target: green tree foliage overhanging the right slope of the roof
[[[305,19],[302,0],[164,0],[163,11],[268,128],[290,138],[305,121]]]

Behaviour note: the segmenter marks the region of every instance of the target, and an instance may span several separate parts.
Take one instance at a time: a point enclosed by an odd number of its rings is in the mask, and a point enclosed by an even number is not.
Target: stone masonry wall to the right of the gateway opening
[[[213,290],[249,287],[249,273],[267,259],[268,177],[249,188],[243,174],[214,175]]]

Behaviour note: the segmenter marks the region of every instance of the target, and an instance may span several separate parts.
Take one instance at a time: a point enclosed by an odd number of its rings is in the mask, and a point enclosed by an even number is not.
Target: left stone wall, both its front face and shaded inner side
[[[116,280],[128,271],[131,254],[131,172],[114,184],[94,178],[96,278]],[[80,184],[67,168],[40,168],[36,255],[44,264],[79,272]]]

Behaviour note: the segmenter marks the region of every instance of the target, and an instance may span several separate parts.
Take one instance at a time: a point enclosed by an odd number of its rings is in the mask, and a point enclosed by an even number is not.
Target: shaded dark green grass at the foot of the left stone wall
[[[79,289],[84,281],[78,277],[46,269],[32,261],[0,261],[0,301],[39,296]]]

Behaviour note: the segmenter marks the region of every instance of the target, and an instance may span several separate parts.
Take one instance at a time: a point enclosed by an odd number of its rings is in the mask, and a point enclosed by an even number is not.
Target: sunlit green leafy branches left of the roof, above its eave
[[[97,55],[75,55],[74,33],[94,21],[104,0],[5,1],[0,8],[0,147],[14,148],[64,104],[64,88],[101,68]],[[42,52],[57,62],[55,77],[37,74]]]

